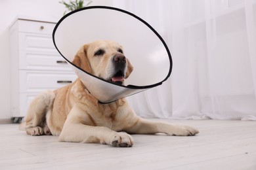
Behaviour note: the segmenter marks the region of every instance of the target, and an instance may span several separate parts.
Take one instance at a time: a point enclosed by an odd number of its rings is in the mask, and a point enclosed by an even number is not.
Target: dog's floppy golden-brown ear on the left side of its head
[[[72,63],[74,63],[74,65],[76,65],[77,67],[80,67],[84,71],[87,71],[87,73],[92,73],[91,65],[87,58],[87,48],[88,46],[86,44],[82,46],[78,50],[77,54],[75,54],[75,58],[73,59]]]

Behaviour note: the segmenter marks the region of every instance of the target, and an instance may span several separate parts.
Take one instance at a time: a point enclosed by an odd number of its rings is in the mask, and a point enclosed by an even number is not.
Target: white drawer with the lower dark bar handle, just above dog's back
[[[38,93],[61,88],[77,78],[68,71],[19,71],[20,93]]]

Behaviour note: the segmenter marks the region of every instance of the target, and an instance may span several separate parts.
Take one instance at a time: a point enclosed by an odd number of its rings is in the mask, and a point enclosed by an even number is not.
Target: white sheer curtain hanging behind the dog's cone
[[[128,97],[137,114],[256,120],[256,0],[113,2],[152,25],[173,58],[163,85]]]

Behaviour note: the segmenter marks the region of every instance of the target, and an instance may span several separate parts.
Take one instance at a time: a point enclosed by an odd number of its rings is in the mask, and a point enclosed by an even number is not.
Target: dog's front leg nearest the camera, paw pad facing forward
[[[79,107],[74,106],[62,128],[58,141],[102,143],[112,146],[130,147],[133,138],[125,132],[116,132],[108,127],[90,126],[89,115]]]

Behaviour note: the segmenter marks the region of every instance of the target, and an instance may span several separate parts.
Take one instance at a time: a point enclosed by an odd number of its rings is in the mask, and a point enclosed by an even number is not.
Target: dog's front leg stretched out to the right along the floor
[[[199,133],[197,129],[179,124],[168,124],[166,122],[154,122],[138,118],[137,122],[127,129],[128,133],[155,134],[165,133],[167,135],[192,136]]]

